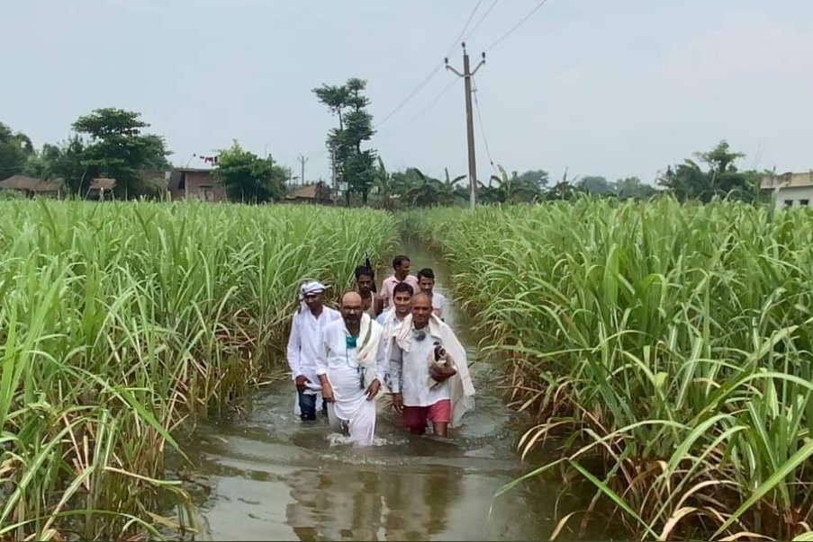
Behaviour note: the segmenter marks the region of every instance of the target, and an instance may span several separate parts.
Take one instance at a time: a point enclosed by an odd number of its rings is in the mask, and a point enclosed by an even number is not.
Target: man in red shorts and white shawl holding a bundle
[[[423,293],[412,298],[411,315],[391,341],[389,385],[404,427],[423,434],[429,421],[434,434],[446,437],[448,426],[460,425],[463,415],[474,408],[463,345],[432,314],[432,299]]]

